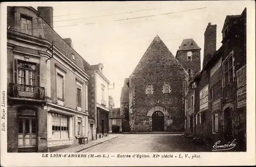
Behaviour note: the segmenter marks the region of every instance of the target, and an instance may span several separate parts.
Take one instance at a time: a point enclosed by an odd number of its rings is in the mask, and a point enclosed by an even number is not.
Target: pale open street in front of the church
[[[118,134],[119,137],[82,152],[209,152],[180,134]]]

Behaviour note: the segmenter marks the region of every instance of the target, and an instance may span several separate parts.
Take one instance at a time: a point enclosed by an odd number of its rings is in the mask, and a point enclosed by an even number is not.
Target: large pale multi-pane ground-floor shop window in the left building
[[[52,113],[53,139],[68,139],[69,124],[68,116]]]

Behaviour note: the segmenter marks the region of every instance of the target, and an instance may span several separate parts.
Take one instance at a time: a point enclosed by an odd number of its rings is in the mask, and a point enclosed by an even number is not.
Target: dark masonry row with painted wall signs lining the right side
[[[205,31],[203,69],[189,82],[185,101],[194,95],[194,113],[186,109],[186,135],[209,145],[236,140],[246,151],[246,8],[226,16],[222,46],[216,49],[216,25]],[[188,105],[190,103],[188,102]],[[192,122],[192,123],[191,123]]]

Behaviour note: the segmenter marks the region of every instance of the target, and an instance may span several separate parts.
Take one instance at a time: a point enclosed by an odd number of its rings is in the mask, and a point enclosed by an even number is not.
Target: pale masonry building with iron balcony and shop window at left
[[[48,152],[88,135],[89,64],[52,16],[52,7],[7,8],[8,152]]]

